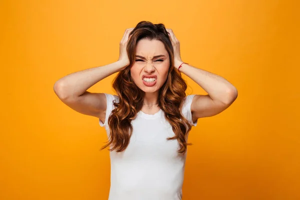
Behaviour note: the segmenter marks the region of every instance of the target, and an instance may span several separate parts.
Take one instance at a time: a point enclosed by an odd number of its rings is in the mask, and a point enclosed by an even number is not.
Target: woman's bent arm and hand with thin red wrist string
[[[174,49],[174,66],[178,69],[183,62],[180,58],[180,42],[172,29],[167,28]],[[186,74],[208,94],[195,95],[190,110],[192,120],[200,117],[213,116],[225,110],[237,97],[237,89],[225,78],[214,73],[183,63],[180,72]]]

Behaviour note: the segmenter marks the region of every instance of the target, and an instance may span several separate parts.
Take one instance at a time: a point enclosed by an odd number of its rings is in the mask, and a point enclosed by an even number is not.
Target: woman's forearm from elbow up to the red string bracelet
[[[217,74],[185,63],[182,64],[179,70],[200,85],[213,100],[228,103],[237,95],[236,88]]]

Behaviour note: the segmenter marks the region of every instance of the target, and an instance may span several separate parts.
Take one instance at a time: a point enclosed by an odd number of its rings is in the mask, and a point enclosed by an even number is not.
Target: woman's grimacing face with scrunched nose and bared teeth
[[[140,39],[136,44],[135,56],[130,68],[134,83],[144,92],[159,90],[167,78],[170,65],[169,54],[163,43],[157,39]],[[145,85],[143,75],[156,75],[156,83],[153,86]]]

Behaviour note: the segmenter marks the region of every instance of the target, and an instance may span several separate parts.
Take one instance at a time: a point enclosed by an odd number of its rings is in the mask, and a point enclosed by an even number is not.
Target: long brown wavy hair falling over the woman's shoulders
[[[185,137],[191,129],[191,125],[180,112],[183,98],[186,96],[187,85],[181,77],[181,73],[174,67],[173,46],[165,26],[162,23],[153,24],[149,21],[140,21],[129,35],[132,36],[127,42],[126,50],[130,62],[113,79],[112,87],[119,96],[119,102],[113,102],[115,108],[108,118],[110,135],[107,143],[101,149],[110,146],[111,148],[108,150],[121,152],[128,146],[132,134],[131,120],[141,110],[145,93],[136,86],[131,78],[130,67],[135,60],[135,48],[138,40],[147,38],[160,40],[169,54],[170,66],[167,79],[158,92],[158,106],[164,112],[164,117],[172,126],[175,134],[166,139],[177,139],[180,147],[177,152],[184,153],[186,145],[191,145],[191,143],[186,143]]]

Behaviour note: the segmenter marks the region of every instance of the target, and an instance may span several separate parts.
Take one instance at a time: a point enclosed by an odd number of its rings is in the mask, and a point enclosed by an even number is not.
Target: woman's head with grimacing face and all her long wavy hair
[[[126,50],[130,62],[113,80],[112,87],[119,96],[119,102],[114,102],[115,109],[108,118],[109,141],[101,149],[111,145],[109,150],[124,150],[132,132],[131,120],[141,109],[145,92],[158,92],[158,106],[175,133],[167,139],[177,139],[178,152],[185,152],[189,144],[185,135],[191,126],[180,110],[187,86],[174,67],[173,46],[165,26],[140,21],[129,36]],[[154,57],[156,55],[163,56]],[[154,76],[155,84],[147,86],[153,79],[145,79],[146,83],[144,76]]]

